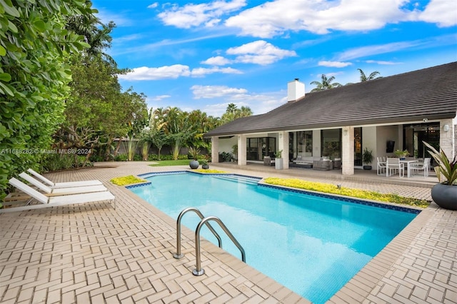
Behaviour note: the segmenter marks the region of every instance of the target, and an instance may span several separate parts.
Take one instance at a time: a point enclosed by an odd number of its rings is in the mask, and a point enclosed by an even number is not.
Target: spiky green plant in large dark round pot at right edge
[[[438,182],[431,189],[431,198],[441,208],[457,210],[457,161],[449,161],[442,149],[436,151],[430,144],[423,141],[423,144],[430,150],[428,153],[433,157],[438,166],[435,166]]]

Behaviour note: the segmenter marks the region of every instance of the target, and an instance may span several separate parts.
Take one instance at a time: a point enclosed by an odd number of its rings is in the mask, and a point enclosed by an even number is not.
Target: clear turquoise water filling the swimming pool
[[[146,179],[150,185],[130,190],[174,219],[189,207],[221,218],[246,251],[248,265],[313,303],[331,298],[418,212],[228,181],[222,176],[179,173]],[[195,230],[199,221],[195,213],[187,213],[182,223]],[[213,226],[218,230],[216,223]],[[241,258],[225,233],[218,232],[224,250]],[[207,228],[201,235],[217,245]]]

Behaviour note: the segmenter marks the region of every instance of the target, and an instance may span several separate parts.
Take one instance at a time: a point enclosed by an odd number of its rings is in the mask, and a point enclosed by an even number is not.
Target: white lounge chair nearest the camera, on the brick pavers
[[[14,212],[14,211],[24,211],[24,210],[31,210],[31,209],[38,209],[38,208],[48,208],[54,206],[64,206],[64,205],[73,205],[76,203],[91,203],[96,201],[110,201],[114,203],[114,208],[116,209],[116,201],[115,196],[113,193],[109,191],[101,191],[101,192],[91,192],[91,193],[79,193],[79,194],[72,194],[68,196],[52,196],[47,197],[43,193],[39,193],[34,188],[22,183],[17,178],[11,178],[9,183],[18,188],[20,191],[28,194],[32,198],[36,199],[39,204],[36,205],[28,205],[28,206],[20,206],[20,207],[13,207],[13,208],[3,208],[0,209],[0,213],[6,212]]]

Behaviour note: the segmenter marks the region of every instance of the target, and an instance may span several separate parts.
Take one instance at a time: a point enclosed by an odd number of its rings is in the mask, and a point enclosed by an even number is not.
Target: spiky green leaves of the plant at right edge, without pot
[[[438,166],[435,166],[435,173],[438,181],[440,183],[446,183],[447,185],[457,185],[457,160],[454,156],[453,161],[449,161],[446,153],[443,152],[443,149],[440,148],[438,152],[436,148],[433,148],[429,143],[423,141],[423,144],[427,146],[430,150],[428,153],[433,157],[433,159],[438,163]]]

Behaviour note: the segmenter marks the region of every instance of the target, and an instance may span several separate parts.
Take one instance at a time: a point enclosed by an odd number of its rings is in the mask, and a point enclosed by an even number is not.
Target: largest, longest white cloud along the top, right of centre
[[[434,1],[446,1],[447,14],[453,14],[449,8],[454,0]],[[261,38],[271,38],[286,31],[316,34],[326,34],[331,30],[368,31],[389,23],[416,19],[417,11],[406,9],[406,4],[408,0],[276,0],[232,16],[225,24],[241,29],[243,35]],[[433,5],[430,14],[435,10],[441,10],[441,7]]]

